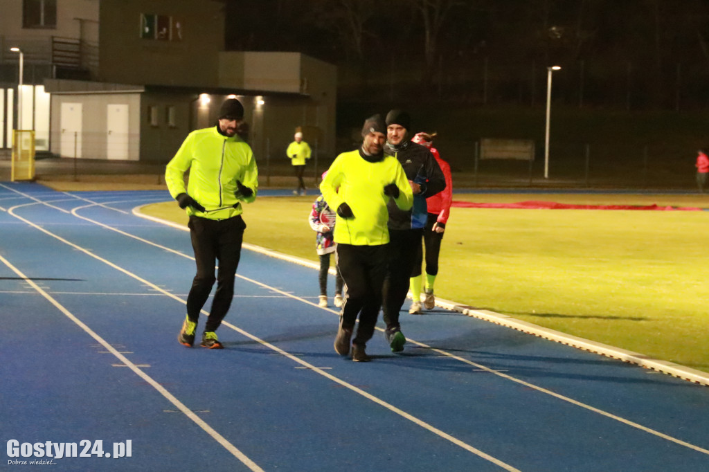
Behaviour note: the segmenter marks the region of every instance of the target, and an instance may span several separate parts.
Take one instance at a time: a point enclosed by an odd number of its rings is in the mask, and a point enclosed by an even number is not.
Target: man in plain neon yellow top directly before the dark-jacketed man
[[[345,301],[335,352],[350,353],[350,339],[359,315],[357,335],[352,339],[352,360],[368,361],[365,344],[374,335],[381,307],[381,291],[387,266],[389,210],[393,200],[401,210],[413,204],[413,191],[396,157],[383,152],[386,125],[375,115],[364,122],[364,142],[359,150],[343,152],[330,166],[320,191],[330,208],[337,209],[334,239],[337,266],[345,281]]]

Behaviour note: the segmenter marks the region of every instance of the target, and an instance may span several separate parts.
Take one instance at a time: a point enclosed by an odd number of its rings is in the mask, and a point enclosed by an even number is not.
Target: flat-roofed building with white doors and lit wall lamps
[[[38,2],[45,9],[42,21],[51,24],[19,27]],[[15,28],[12,36],[3,36],[3,69],[18,60],[6,52],[9,42],[26,41],[29,50],[30,37],[51,43],[49,33],[61,31],[86,44],[65,65],[50,53],[54,46],[25,55],[25,64],[36,64],[30,68],[45,67],[34,82],[48,94],[48,106],[23,113],[23,128],[36,130],[45,120],[46,149],[52,154],[167,162],[190,130],[213,125],[220,103],[238,96],[257,159],[285,158],[296,128],[318,154],[334,155],[335,66],[299,52],[225,51],[220,1],[0,0],[0,8],[6,4],[23,8],[4,10],[0,22]],[[11,93],[16,83],[9,82],[3,83],[5,102],[11,103],[3,123],[11,130],[17,105]],[[30,101],[25,97],[23,110]]]

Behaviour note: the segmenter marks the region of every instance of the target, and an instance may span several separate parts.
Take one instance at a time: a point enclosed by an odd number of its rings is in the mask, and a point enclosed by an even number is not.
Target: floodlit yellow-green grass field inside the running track
[[[316,261],[313,199],[258,198],[245,208],[245,242]],[[691,195],[454,199],[709,207]],[[145,213],[186,223],[174,202]],[[449,223],[440,297],[709,372],[708,212],[453,208]]]

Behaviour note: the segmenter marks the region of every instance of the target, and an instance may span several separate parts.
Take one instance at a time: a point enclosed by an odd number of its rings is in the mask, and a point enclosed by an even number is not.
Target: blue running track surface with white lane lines
[[[131,459],[62,459],[65,470],[125,470],[125,461],[157,470],[205,461],[217,470],[709,463],[703,387],[442,310],[403,316],[419,343],[403,355],[387,352],[378,333],[368,347],[376,359],[355,364],[333,352],[337,316],[315,306],[315,271],[247,251],[220,330],[227,349],[184,349],[174,338],[194,271],[189,237],[130,214],[166,194],[0,190],[11,236],[2,238],[0,298],[14,313],[0,315],[13,339],[0,347],[12,379],[2,437],[133,439]]]

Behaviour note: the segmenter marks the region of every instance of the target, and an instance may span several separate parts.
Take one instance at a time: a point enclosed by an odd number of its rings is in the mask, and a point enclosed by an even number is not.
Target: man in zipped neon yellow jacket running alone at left
[[[189,133],[167,164],[165,182],[170,195],[189,215],[189,230],[197,274],[187,296],[187,315],[178,341],[194,344],[199,313],[217,282],[201,346],[222,349],[216,330],[234,295],[234,280],[245,230],[241,203],[256,198],[258,172],[251,147],[237,134],[244,107],[226,100],[216,126]],[[189,184],[184,174],[189,169]],[[219,269],[215,279],[216,262]]]

